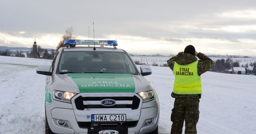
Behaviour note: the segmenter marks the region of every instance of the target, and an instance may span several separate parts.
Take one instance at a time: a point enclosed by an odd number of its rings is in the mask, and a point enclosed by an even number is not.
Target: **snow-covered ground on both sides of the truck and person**
[[[45,76],[35,68],[50,63],[0,56],[0,134],[44,134]],[[170,134],[174,76],[168,67],[151,68],[145,77],[160,101],[159,134]],[[202,83],[198,134],[256,134],[255,75],[206,72]]]

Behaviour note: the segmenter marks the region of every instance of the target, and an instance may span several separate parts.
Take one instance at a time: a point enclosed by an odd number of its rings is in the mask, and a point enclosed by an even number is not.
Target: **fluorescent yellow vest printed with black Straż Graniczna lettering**
[[[174,63],[173,74],[175,76],[173,91],[176,94],[201,94],[201,76],[197,73],[198,60],[187,65]]]

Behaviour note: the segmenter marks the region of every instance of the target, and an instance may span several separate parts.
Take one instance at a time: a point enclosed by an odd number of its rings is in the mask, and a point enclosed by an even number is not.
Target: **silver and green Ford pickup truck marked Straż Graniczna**
[[[137,69],[113,40],[64,44],[36,69],[47,75],[45,134],[158,134],[159,100],[143,77],[149,66]]]

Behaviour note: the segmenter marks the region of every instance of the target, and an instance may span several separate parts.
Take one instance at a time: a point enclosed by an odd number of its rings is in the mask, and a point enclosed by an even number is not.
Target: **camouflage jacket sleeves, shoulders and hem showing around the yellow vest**
[[[198,68],[198,75],[200,76],[212,68],[213,61],[212,61],[212,59],[208,58],[206,55],[204,55],[203,53],[200,53],[200,52],[197,54],[197,57],[199,58],[197,68]],[[168,66],[173,71],[173,66],[174,66],[175,62],[177,62],[180,65],[187,65],[187,64],[195,62],[196,60],[197,60],[197,58],[192,54],[188,54],[188,53],[183,54],[183,52],[179,52],[179,54],[177,54],[176,56],[169,59],[167,61],[167,63],[168,63]],[[201,98],[201,95],[178,95],[178,94],[175,94],[172,92],[172,97],[173,98],[178,98],[178,97],[186,97],[186,98],[187,97],[193,97],[193,98],[199,97],[199,98]]]

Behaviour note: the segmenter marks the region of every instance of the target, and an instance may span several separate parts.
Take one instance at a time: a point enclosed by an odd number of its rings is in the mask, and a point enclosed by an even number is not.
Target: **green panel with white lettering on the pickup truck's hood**
[[[80,92],[134,92],[132,74],[70,73],[66,74],[77,85]]]

